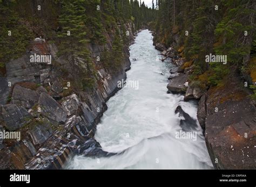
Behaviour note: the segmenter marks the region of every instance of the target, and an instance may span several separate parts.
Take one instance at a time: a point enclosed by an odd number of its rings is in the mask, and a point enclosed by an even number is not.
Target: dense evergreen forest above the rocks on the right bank
[[[191,81],[198,81],[207,71],[211,72],[207,86],[218,85],[235,70],[253,74],[247,62],[250,55],[256,55],[253,1],[159,0],[158,5],[154,40],[166,47],[184,46],[185,58],[193,60]],[[205,56],[210,53],[227,55],[227,64],[206,63]]]

